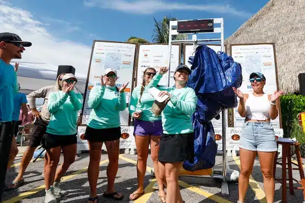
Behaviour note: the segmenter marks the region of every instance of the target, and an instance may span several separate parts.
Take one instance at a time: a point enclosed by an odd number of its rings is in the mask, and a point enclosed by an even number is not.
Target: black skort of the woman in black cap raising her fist
[[[160,139],[158,161],[194,163],[194,134],[164,134]]]

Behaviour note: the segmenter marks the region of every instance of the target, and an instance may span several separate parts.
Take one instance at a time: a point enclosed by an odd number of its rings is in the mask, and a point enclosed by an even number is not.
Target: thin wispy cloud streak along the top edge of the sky
[[[119,10],[126,13],[152,14],[158,11],[193,10],[209,13],[231,14],[248,18],[252,14],[237,10],[229,4],[187,4],[175,3],[163,0],[84,0],[88,7],[101,7],[106,9]]]

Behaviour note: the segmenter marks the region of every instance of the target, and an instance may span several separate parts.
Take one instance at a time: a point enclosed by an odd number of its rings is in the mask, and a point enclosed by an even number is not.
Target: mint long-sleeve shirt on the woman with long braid
[[[161,120],[161,116],[155,116],[152,113],[152,104],[154,102],[153,96],[148,92],[148,88],[145,87],[141,100],[138,102],[140,98],[140,92],[141,92],[142,86],[137,86],[133,89],[130,102],[129,102],[129,114],[132,116],[133,113],[137,110],[141,110],[141,117],[137,118],[140,120],[145,120],[145,121],[156,121],[156,120]]]

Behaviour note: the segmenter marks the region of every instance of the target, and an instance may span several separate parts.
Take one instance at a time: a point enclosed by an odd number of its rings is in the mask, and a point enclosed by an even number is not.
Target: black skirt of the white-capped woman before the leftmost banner
[[[121,127],[95,129],[87,126],[84,139],[91,142],[115,141],[121,138]]]

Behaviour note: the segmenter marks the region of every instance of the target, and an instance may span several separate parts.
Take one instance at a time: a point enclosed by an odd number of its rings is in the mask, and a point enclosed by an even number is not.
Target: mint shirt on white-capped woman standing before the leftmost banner
[[[87,124],[89,127],[120,127],[120,111],[126,109],[126,95],[118,92],[116,87],[94,86],[89,94],[88,106],[92,109]]]

